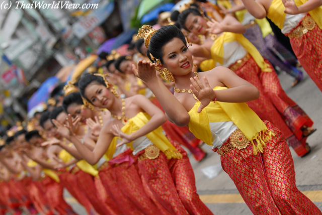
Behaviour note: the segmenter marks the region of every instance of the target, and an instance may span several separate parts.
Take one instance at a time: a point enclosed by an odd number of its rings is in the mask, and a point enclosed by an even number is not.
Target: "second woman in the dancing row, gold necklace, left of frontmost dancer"
[[[144,181],[170,214],[212,214],[196,193],[187,153],[176,143],[174,147],[160,128],[166,122],[160,109],[142,95],[119,98],[105,76],[84,76],[79,90],[89,102],[108,109],[113,117],[104,125],[93,152],[72,136],[83,158],[95,164],[110,147],[116,147],[113,139],[119,136],[122,142],[118,146],[129,143]]]

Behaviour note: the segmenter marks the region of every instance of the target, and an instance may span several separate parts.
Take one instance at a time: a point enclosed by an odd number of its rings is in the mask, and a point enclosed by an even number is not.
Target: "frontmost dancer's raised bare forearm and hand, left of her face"
[[[139,60],[137,63],[137,69],[133,65],[133,71],[137,77],[146,82],[172,122],[181,127],[187,126],[190,122],[188,112],[179,100],[167,89],[162,81],[155,76],[154,64]]]

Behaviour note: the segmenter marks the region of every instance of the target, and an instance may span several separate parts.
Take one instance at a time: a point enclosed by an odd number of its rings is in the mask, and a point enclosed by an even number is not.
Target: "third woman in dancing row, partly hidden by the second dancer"
[[[70,86],[71,87],[71,86]],[[87,104],[88,102],[85,101]],[[102,127],[110,119],[111,114],[105,110],[103,112],[94,111],[92,108],[84,105],[82,96],[79,92],[72,92],[66,95],[63,99],[64,110],[71,116],[78,118],[80,122],[90,125],[91,130],[83,138],[84,143],[93,142],[91,136],[98,136]],[[94,142],[96,144],[97,138]],[[115,142],[116,144],[116,142]],[[89,148],[93,150],[94,148]],[[145,211],[154,209],[153,203],[149,196],[145,193],[140,176],[136,170],[136,166],[131,165],[129,154],[132,151],[126,147],[111,147],[106,150],[105,155],[97,163],[99,176],[102,180],[105,190],[112,197],[109,200],[109,205],[112,206],[113,213],[111,214],[144,214]],[[77,154],[79,154],[77,152]],[[112,159],[113,158],[113,159]],[[128,158],[128,160],[126,160]],[[123,160],[122,160],[123,159]],[[118,165],[113,165],[113,161]],[[108,162],[110,161],[110,162]],[[128,161],[128,162],[126,162]],[[129,164],[130,163],[130,164]],[[133,163],[133,162],[132,162]],[[111,201],[112,200],[112,201]],[[114,202],[113,202],[114,201]],[[115,203],[117,202],[117,206]],[[119,212],[121,211],[121,212]]]

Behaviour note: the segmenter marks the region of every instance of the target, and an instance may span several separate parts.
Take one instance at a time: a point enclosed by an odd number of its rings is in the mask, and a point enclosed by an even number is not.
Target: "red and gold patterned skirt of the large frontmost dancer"
[[[223,170],[254,214],[321,215],[296,187],[292,155],[282,133],[270,122],[264,123],[275,134],[264,153],[254,155],[252,144],[246,149],[234,148],[220,156]]]

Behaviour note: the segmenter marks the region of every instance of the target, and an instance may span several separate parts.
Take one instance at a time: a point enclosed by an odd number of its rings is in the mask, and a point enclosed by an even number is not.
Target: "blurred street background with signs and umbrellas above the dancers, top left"
[[[2,1],[10,4],[9,0]],[[0,136],[33,117],[35,112],[47,109],[48,104],[55,102],[48,100],[52,90],[73,74],[77,76],[91,65],[98,68],[100,54],[114,49],[127,54],[128,44],[138,28],[142,24],[157,24],[159,14],[171,11],[178,3],[170,0],[59,2],[55,7],[58,1],[11,0],[9,10],[0,10]],[[86,9],[61,7],[65,2],[84,5]],[[182,3],[185,1],[179,4]],[[40,4],[52,6],[39,7]]]

